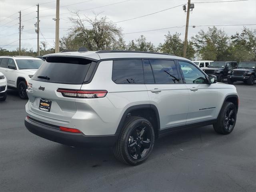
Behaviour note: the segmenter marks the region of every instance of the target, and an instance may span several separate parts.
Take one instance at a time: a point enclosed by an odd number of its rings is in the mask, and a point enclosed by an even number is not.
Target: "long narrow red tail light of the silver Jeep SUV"
[[[106,90],[70,90],[58,89],[57,92],[62,93],[64,97],[74,98],[103,98],[107,95]]]

